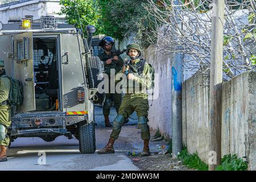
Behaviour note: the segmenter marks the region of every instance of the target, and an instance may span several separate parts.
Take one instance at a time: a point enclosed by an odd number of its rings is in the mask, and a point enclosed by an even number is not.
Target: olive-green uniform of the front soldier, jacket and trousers
[[[129,117],[134,111],[138,115],[138,126],[141,129],[141,138],[143,140],[150,139],[150,130],[147,125],[148,119],[148,95],[146,93],[146,88],[150,87],[152,84],[151,75],[149,73],[149,65],[146,63],[141,75],[138,75],[138,68],[140,65],[140,59],[134,60],[134,63],[130,65],[130,69],[134,72],[131,73],[135,76],[135,80],[126,80],[123,82],[123,86],[126,88],[125,96],[123,96],[122,104],[119,107],[118,115],[113,122],[113,131],[110,134],[111,138],[117,139],[121,127],[124,122],[124,118]],[[122,71],[117,74],[122,74]]]

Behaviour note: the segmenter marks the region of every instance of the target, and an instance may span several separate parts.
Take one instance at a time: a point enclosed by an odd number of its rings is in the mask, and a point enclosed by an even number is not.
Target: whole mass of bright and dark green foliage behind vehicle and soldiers
[[[66,15],[68,23],[76,24],[84,33],[86,26],[92,24],[97,29],[96,34],[118,40],[125,35],[135,35],[135,40],[142,47],[149,46],[157,39],[152,34],[156,30],[156,20],[146,10],[147,0],[61,0],[60,5],[63,6],[61,14]]]

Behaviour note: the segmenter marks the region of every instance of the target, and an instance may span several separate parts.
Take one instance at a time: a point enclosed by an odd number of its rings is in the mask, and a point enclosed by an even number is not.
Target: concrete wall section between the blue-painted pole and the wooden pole
[[[202,75],[193,76],[182,84],[183,143],[192,154],[208,161],[209,154],[209,89]]]

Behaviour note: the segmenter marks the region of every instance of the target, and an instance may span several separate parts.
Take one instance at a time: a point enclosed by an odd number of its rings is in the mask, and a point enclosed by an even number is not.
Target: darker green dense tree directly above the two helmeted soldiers
[[[142,47],[149,46],[148,39],[156,40],[151,34],[156,26],[154,17],[146,10],[147,0],[97,0],[97,3],[104,34],[119,40],[125,35],[135,35]]]

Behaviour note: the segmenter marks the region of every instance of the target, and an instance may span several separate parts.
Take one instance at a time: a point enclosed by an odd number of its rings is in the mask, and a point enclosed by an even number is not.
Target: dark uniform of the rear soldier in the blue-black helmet
[[[108,59],[113,59],[113,56],[107,55],[104,52],[102,52],[100,55],[98,55],[101,61],[104,61],[104,66],[105,66],[105,73],[109,76],[110,78],[110,69],[114,69],[115,73],[118,73],[122,67],[123,67],[123,60],[120,56],[118,56],[118,60],[113,60],[111,64],[106,64],[106,60]],[[122,94],[119,93],[110,93],[110,80],[109,82],[109,93],[105,93],[105,102],[103,105],[103,114],[104,115],[109,115],[110,113],[110,107],[112,106],[112,101],[114,101],[114,106],[115,110],[118,113],[119,107],[122,102]]]

